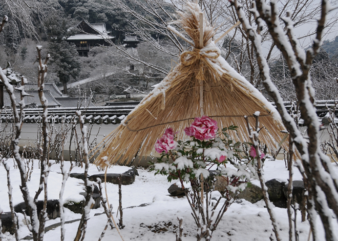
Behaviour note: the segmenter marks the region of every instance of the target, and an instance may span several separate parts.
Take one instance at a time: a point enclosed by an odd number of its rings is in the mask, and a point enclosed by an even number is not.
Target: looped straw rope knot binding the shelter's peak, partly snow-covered
[[[217,47],[206,47],[203,49],[194,48],[193,51],[184,51],[181,54],[181,63],[185,66],[192,65],[198,59],[218,58],[221,52]]]

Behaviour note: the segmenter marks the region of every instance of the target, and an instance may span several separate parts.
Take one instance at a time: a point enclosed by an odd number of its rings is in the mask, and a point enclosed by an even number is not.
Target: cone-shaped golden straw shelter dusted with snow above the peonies
[[[215,119],[219,128],[237,125],[239,131],[233,138],[249,141],[244,116],[255,126],[253,114],[259,111],[260,124],[265,127],[260,140],[268,148],[276,148],[285,135],[277,110],[220,56],[212,41],[214,30],[200,18],[198,4],[188,3],[179,14],[175,23],[190,39],[168,28],[190,43],[191,50],[180,55],[180,63],[104,139],[96,165],[129,164],[136,155],[149,155],[168,127],[179,131],[179,138],[187,138],[183,129],[203,114]]]

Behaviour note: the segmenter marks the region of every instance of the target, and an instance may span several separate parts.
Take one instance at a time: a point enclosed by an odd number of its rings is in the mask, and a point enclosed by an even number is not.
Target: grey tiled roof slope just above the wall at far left
[[[26,93],[31,95],[31,96],[25,97],[26,107],[29,107],[29,106],[36,106],[38,108],[42,107],[37,90],[26,90]],[[46,90],[46,91],[44,91],[44,94],[45,94],[45,97],[48,101],[49,107],[51,107],[51,108],[60,107],[60,103],[58,103],[56,101],[56,99],[52,96],[50,91]],[[14,90],[14,95],[15,95],[16,105],[18,106],[18,103],[21,101],[20,91]],[[9,98],[9,94],[7,93],[7,91],[4,91],[4,106],[6,108],[11,108],[11,100]]]

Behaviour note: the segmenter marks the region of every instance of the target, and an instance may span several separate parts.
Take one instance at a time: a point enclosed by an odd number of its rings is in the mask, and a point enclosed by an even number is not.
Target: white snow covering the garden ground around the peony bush
[[[13,186],[14,205],[23,202],[22,194],[19,190],[20,177],[18,169],[14,168],[13,161],[9,160],[11,170],[11,182]],[[70,163],[66,162],[69,168]],[[332,168],[338,173],[338,167],[332,165]],[[108,173],[122,173],[129,170],[129,167],[114,166],[108,169]],[[75,172],[83,172],[83,169],[75,167],[72,170]],[[89,175],[99,173],[95,166],[89,169]],[[102,173],[102,172],[101,172]],[[168,196],[167,188],[170,183],[167,182],[165,176],[154,175],[154,172],[145,169],[138,169],[139,176],[136,176],[135,182],[132,185],[122,186],[122,206],[123,206],[123,224],[125,228],[121,230],[124,240],[175,240],[175,233],[178,230],[177,217],[183,217],[183,238],[182,240],[196,240],[196,225],[191,215],[191,209],[185,197],[177,198]],[[265,180],[278,178],[287,181],[288,172],[285,168],[283,160],[266,161],[264,167]],[[60,174],[59,164],[51,167],[51,172],[48,177],[48,199],[58,199],[61,187],[62,175]],[[297,169],[294,169],[294,180],[301,180],[301,175]],[[30,194],[33,196],[38,187],[39,169],[38,161],[34,163],[32,179],[28,183]],[[254,182],[255,183],[255,182]],[[8,189],[6,170],[0,164],[0,205],[4,212],[10,211],[8,203]],[[258,184],[258,183],[255,183]],[[64,199],[76,198],[78,193],[83,192],[83,181],[69,177]],[[118,187],[114,184],[107,184],[107,192],[109,203],[114,206],[114,218],[118,207]],[[39,198],[43,198],[43,194]],[[141,204],[149,204],[147,206],[138,207]],[[136,206],[136,207],[133,207]],[[129,208],[133,207],[133,208]],[[280,232],[283,240],[288,240],[288,219],[286,209],[274,208],[276,212]],[[105,224],[107,216],[103,213],[103,208],[91,210],[91,218],[88,221],[88,231],[85,240],[97,240],[100,236]],[[78,219],[81,214],[75,214],[68,209],[65,209],[66,221]],[[19,218],[19,237],[24,238],[29,235],[29,231],[23,222],[23,215],[18,214]],[[297,227],[299,231],[299,240],[307,240],[309,234],[308,222],[301,222],[300,213],[297,215]],[[336,219],[335,219],[336,220]],[[60,222],[59,218],[47,220],[46,227]],[[79,222],[66,224],[66,240],[74,240]],[[317,218],[319,233],[324,240],[323,227],[320,223],[320,218]],[[337,222],[333,222],[338,236]],[[212,240],[269,240],[272,234],[272,226],[264,208],[263,200],[256,204],[251,204],[244,199],[237,200],[236,203],[230,206],[223,216],[217,230],[213,233]],[[5,235],[3,240],[15,240],[11,235]],[[60,227],[52,229],[45,234],[44,240],[56,241],[60,240]],[[116,229],[108,228],[102,240],[121,240]]]

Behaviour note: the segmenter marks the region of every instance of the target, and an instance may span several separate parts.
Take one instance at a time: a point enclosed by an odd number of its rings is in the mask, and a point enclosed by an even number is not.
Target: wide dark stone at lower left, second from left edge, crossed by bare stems
[[[37,208],[37,213],[39,214],[41,210],[43,210],[44,208],[44,201],[43,200],[37,201],[36,208]],[[28,210],[26,209],[26,204],[24,202],[15,205],[14,211],[17,213],[24,213],[25,211],[26,215],[29,215]],[[46,212],[47,212],[47,217],[49,219],[55,219],[57,217],[60,217],[59,200],[57,199],[47,200]]]

